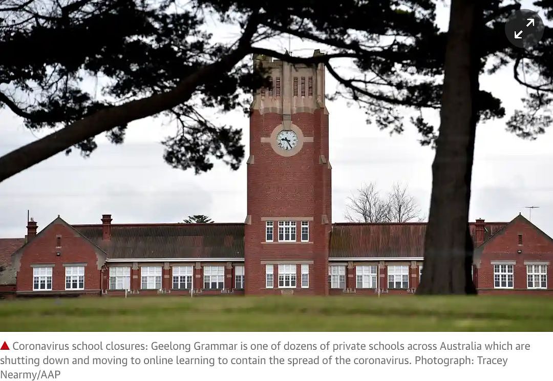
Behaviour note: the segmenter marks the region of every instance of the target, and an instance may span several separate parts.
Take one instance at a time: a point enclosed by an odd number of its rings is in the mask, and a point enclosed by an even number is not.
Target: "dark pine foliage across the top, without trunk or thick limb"
[[[549,1],[536,6],[553,7]],[[518,8],[517,1],[485,2],[482,60],[492,72],[515,62],[515,77],[534,93],[525,109],[514,112],[508,129],[534,138],[550,124],[544,112],[549,102],[539,100],[551,91],[553,42],[547,29],[532,50],[512,48],[503,23]],[[247,41],[249,53],[284,58],[283,52],[256,48],[257,41],[278,34],[326,46],[322,61],[342,85],[330,97],[357,102],[366,108],[367,122],[397,133],[404,131],[405,109],[415,109],[419,115],[409,121],[421,133],[421,143],[434,146],[438,131],[425,121],[424,111],[440,107],[446,34],[435,25],[430,0],[325,7],[312,1],[8,0],[0,7],[0,107],[23,117],[28,128],[58,130],[102,109],[169,91],[235,46],[210,39],[211,18],[244,27],[254,13],[257,33]],[[263,73],[251,72],[247,54],[243,58],[196,85],[188,101],[165,110],[179,125],[163,142],[170,165],[200,173],[220,159],[238,168],[244,156],[241,129],[215,126],[200,110],[247,111],[249,93],[264,79]],[[341,71],[334,58],[353,59],[357,70]],[[315,59],[304,59],[309,61]],[[534,82],[520,79],[520,70]],[[481,120],[504,116],[497,96],[481,91]],[[108,131],[109,140],[121,144],[126,128]],[[96,143],[90,136],[74,147],[89,155]]]

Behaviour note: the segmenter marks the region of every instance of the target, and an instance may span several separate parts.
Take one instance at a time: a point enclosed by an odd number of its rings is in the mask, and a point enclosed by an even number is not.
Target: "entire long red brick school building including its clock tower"
[[[320,54],[315,51],[315,54]],[[272,85],[252,102],[243,223],[70,225],[0,239],[16,295],[413,294],[425,223],[332,223],[324,66],[255,56]],[[553,239],[519,215],[470,223],[479,293],[549,294]]]

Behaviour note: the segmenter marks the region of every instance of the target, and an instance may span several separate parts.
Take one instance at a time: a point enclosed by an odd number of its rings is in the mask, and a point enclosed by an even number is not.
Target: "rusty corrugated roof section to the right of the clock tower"
[[[486,222],[484,241],[507,225]],[[476,225],[469,223],[474,239]],[[424,256],[426,223],[335,223],[330,258],[414,258]]]

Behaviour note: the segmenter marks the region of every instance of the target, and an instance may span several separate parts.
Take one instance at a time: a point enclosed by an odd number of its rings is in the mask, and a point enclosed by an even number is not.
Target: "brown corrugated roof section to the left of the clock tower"
[[[244,258],[243,223],[114,224],[109,241],[102,225],[73,227],[108,259]]]

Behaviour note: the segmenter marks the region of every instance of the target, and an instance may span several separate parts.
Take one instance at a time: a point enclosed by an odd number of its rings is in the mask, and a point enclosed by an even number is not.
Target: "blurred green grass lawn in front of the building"
[[[60,298],[0,301],[2,331],[551,331],[544,296]]]

